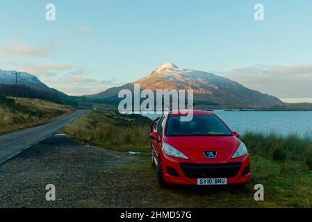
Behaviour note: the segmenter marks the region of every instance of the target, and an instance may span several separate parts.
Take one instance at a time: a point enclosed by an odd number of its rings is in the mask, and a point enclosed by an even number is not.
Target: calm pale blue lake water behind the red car
[[[246,132],[277,133],[280,135],[312,135],[312,112],[213,111],[231,128],[243,135]],[[145,115],[151,119],[156,115]]]

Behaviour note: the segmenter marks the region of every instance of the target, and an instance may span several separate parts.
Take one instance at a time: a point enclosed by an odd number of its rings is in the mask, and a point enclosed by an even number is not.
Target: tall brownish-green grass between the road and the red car
[[[139,114],[90,110],[67,126],[63,133],[115,151],[142,151],[149,144],[151,120]]]

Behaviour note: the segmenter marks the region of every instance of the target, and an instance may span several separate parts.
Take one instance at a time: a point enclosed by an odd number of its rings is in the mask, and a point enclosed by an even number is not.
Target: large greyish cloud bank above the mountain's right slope
[[[222,72],[221,75],[279,98],[312,97],[312,64],[254,65]]]

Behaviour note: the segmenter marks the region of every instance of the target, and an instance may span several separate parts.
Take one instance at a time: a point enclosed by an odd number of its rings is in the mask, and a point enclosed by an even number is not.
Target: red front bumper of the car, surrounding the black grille
[[[165,182],[177,185],[197,185],[197,178],[227,178],[229,185],[243,184],[249,182],[251,173],[249,155],[233,160],[231,159],[228,162],[211,162],[206,164],[206,167],[211,166],[212,168],[209,169],[209,172],[205,172],[203,163],[190,163],[187,160],[181,161],[167,155],[163,157],[161,164]],[[181,164],[190,164],[192,167],[195,166],[193,169],[195,169],[198,164],[198,166],[201,167],[202,173],[194,174],[194,172],[188,172],[185,167],[182,169]],[[227,169],[232,171],[233,166],[236,167],[235,172],[227,172]],[[223,168],[219,169],[219,167]],[[213,172],[213,169],[217,169],[219,171]]]

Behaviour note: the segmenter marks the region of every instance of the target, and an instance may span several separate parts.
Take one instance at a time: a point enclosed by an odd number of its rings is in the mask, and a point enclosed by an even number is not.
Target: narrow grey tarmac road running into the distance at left
[[[27,148],[38,144],[43,139],[58,133],[64,126],[81,117],[83,112],[79,111],[42,126],[27,128],[0,136],[0,165],[22,153]]]

